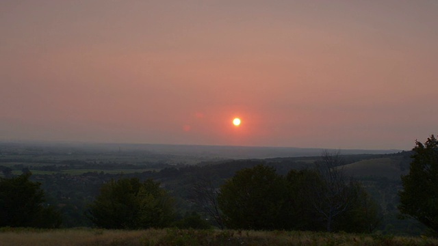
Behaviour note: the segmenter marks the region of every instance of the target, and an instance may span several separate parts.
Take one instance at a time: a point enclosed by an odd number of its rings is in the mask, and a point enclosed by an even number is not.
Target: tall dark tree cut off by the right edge
[[[409,174],[402,176],[398,209],[438,233],[438,141],[415,141]]]

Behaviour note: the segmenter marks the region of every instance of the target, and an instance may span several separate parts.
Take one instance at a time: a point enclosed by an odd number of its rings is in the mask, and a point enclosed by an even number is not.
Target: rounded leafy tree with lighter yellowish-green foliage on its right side
[[[103,184],[88,217],[108,229],[162,228],[173,219],[173,200],[151,179],[120,178]]]

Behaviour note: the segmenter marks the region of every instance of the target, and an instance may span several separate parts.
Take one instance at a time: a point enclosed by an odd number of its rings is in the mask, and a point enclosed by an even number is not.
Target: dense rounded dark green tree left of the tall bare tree
[[[224,224],[236,229],[283,229],[285,186],[273,167],[257,165],[237,171],[218,195]]]

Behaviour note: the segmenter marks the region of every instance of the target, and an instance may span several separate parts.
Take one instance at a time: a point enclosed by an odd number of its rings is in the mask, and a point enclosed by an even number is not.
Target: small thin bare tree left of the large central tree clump
[[[218,207],[218,189],[211,179],[199,178],[192,187],[192,202],[201,206],[205,213],[217,223],[220,229],[224,228]]]

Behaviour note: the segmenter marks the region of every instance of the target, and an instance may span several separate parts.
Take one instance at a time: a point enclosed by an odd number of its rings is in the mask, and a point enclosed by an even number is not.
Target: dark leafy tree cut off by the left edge
[[[61,217],[44,204],[40,183],[29,180],[31,172],[0,178],[0,227],[58,228]]]

